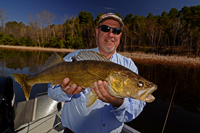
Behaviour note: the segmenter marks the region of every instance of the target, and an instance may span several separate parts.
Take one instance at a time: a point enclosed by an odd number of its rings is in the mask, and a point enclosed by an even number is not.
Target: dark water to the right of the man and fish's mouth
[[[184,67],[137,64],[141,76],[158,85],[153,93],[156,100],[128,125],[141,132],[161,133],[169,104],[178,81],[165,133],[199,131],[200,70]]]

